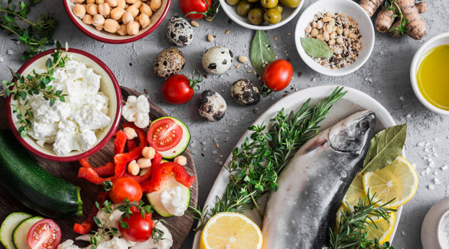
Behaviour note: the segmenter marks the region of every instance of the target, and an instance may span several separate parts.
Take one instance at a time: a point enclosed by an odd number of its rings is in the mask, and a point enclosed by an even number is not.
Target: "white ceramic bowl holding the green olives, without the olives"
[[[266,31],[266,30],[273,29],[273,28],[279,28],[280,26],[284,25],[285,23],[288,23],[289,21],[291,21],[291,19],[294,18],[294,16],[296,16],[296,14],[298,14],[299,10],[301,9],[302,4],[304,4],[304,1],[306,1],[306,0],[300,0],[299,6],[295,9],[285,7],[284,12],[282,12],[281,21],[279,21],[279,23],[276,23],[273,25],[268,24],[268,23],[264,23],[262,25],[253,25],[253,24],[249,23],[248,18],[246,16],[240,16],[237,13],[237,5],[231,6],[231,5],[227,4],[226,0],[220,0],[220,5],[222,6],[222,9],[227,14],[227,16],[229,16],[229,18],[231,18],[232,21],[239,24],[239,26],[243,26],[245,28],[254,29],[254,30]]]

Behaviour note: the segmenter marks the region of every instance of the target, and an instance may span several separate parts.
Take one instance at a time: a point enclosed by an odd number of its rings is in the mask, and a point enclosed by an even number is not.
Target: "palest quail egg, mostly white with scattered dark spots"
[[[220,75],[231,68],[234,55],[225,47],[212,47],[202,55],[201,63],[207,73]]]

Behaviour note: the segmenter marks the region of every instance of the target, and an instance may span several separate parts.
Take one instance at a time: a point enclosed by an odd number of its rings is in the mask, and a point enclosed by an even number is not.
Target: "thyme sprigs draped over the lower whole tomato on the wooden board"
[[[125,198],[123,202],[115,204],[115,206],[111,206],[111,202],[106,200],[103,203],[103,208],[100,209],[100,203],[96,202],[95,205],[98,208],[98,210],[103,211],[104,213],[108,213],[108,216],[106,217],[105,221],[102,223],[99,218],[96,216],[93,217],[93,221],[96,223],[96,225],[102,229],[98,231],[93,231],[93,234],[89,234],[89,237],[91,238],[90,242],[92,244],[92,249],[96,249],[97,246],[101,243],[101,241],[105,240],[105,238],[108,238],[109,236],[115,236],[118,234],[118,228],[115,226],[110,226],[108,223],[110,216],[112,215],[113,211],[118,210],[123,212],[120,216],[120,226],[122,228],[129,228],[128,223],[123,221],[124,218],[130,218],[131,215],[133,215],[133,211],[140,213],[142,218],[145,218],[146,213],[153,213],[153,208],[150,205],[145,205],[142,200],[139,202],[137,201],[129,201],[128,198]],[[162,220],[160,220],[162,221]],[[160,222],[158,221],[158,222]],[[153,232],[151,235],[151,238],[155,240],[155,243],[158,243],[160,240],[162,240],[164,235],[163,231],[160,231],[158,228],[153,228]]]

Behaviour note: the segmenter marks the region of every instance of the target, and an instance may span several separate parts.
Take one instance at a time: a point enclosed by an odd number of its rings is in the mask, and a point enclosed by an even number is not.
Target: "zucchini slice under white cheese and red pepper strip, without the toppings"
[[[187,210],[189,203],[190,203],[190,189],[186,186],[180,184],[173,178],[173,176],[167,181],[167,184],[165,184],[164,188],[162,188],[160,191],[155,191],[152,193],[147,194],[148,201],[150,202],[150,205],[153,206],[154,210],[159,213],[162,217],[171,217],[173,216],[169,211],[167,211],[167,208],[162,206],[162,203],[160,202],[160,194],[162,191],[165,191],[167,189],[172,189],[177,186],[180,186],[182,189],[182,194],[186,196],[186,202],[185,202],[185,209]]]

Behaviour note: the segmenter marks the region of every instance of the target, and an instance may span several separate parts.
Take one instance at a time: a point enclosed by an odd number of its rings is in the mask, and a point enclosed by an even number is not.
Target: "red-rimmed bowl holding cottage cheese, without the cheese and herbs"
[[[53,52],[54,50],[48,50],[35,55],[24,65],[22,65],[17,73],[21,75],[29,75],[33,71],[33,69],[45,68],[46,60],[50,58],[50,55]],[[88,157],[95,152],[98,152],[98,150],[101,149],[115,134],[115,130],[118,127],[122,113],[122,94],[120,92],[120,85],[118,85],[117,79],[115,79],[115,76],[108,68],[108,66],[105,65],[103,61],[91,55],[90,53],[78,49],[69,48],[68,55],[71,55],[74,60],[86,63],[88,68],[93,68],[95,73],[101,75],[100,91],[102,91],[106,96],[109,97],[108,116],[110,117],[110,120],[112,120],[112,122],[108,125],[108,127],[105,127],[104,129],[96,133],[97,143],[91,149],[86,152],[70,152],[64,156],[58,156],[53,152],[53,146],[51,144],[44,144],[44,147],[41,147],[36,144],[36,140],[32,137],[28,136],[22,138],[19,132],[17,132],[16,115],[13,115],[13,108],[10,105],[11,102],[14,103],[15,100],[12,100],[11,96],[9,96],[6,100],[6,112],[8,116],[9,127],[11,127],[11,131],[13,132],[16,139],[18,139],[19,142],[33,154],[53,161],[77,161],[84,157]]]

